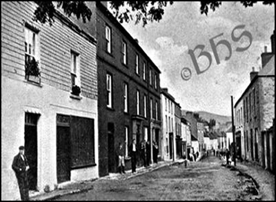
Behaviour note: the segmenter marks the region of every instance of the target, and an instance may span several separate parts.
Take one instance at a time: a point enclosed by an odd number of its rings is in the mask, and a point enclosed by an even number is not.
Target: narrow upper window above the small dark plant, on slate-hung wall
[[[81,85],[80,71],[79,71],[79,54],[71,51],[71,84],[72,87],[75,85]]]

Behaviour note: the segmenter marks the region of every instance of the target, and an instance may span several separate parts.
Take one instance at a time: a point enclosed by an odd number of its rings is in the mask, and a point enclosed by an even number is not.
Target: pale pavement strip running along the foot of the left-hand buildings
[[[59,199],[61,196],[67,196],[71,194],[81,194],[88,192],[94,188],[95,181],[113,181],[113,180],[128,180],[137,176],[144,175],[148,172],[153,172],[170,165],[179,165],[184,163],[183,159],[177,161],[161,161],[150,165],[148,168],[137,168],[137,172],[132,174],[131,170],[126,171],[126,174],[110,173],[108,176],[101,177],[99,179],[93,179],[91,181],[81,182],[68,182],[59,185],[59,188],[50,193],[33,192],[30,194],[30,201],[51,201]]]

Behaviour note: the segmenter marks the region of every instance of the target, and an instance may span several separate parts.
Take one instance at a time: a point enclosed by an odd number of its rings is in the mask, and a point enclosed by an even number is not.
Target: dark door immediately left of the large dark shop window
[[[57,183],[70,181],[70,117],[57,115]]]

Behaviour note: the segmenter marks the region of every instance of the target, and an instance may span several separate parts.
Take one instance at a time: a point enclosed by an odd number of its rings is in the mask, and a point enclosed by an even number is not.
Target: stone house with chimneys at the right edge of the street
[[[236,103],[243,103],[244,158],[270,170],[273,136],[266,133],[275,119],[275,37],[271,37],[272,52],[262,54],[262,69],[250,73],[250,85]]]

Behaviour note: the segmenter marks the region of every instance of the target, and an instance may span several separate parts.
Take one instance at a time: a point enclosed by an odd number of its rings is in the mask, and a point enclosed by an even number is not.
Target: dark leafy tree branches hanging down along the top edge
[[[56,8],[61,8],[70,17],[72,14],[77,19],[82,19],[84,23],[90,21],[92,12],[86,6],[86,1],[34,1],[38,8],[34,12],[34,20],[41,23],[54,22]],[[208,14],[210,10],[219,8],[224,1],[200,1],[201,14]],[[240,1],[246,8],[254,6],[258,1]],[[159,22],[165,13],[165,8],[172,5],[174,1],[110,1],[110,6],[121,23],[135,20],[136,23],[142,22],[144,26],[149,21]],[[264,5],[273,5],[274,1],[263,1]]]

